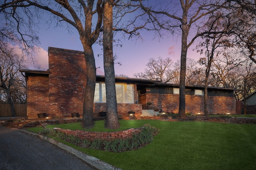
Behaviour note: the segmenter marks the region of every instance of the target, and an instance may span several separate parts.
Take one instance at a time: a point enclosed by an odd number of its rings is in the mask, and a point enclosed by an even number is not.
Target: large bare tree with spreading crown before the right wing
[[[162,2],[158,6],[146,6],[140,0],[141,8],[147,12],[153,28],[165,29],[171,33],[181,35],[181,56],[180,56],[180,104],[179,116],[185,117],[185,83],[186,83],[186,59],[188,48],[195,39],[202,36],[204,32],[197,31],[206,18],[224,6],[222,1],[204,0],[180,0]]]

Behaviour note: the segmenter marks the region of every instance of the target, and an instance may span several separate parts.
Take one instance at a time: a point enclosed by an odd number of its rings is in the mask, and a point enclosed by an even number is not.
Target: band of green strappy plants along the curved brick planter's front
[[[140,149],[141,147],[144,147],[152,142],[154,136],[158,133],[159,130],[157,128],[145,124],[142,126],[140,133],[134,133],[132,137],[127,139],[115,139],[111,141],[94,139],[93,141],[89,141],[87,139],[81,139],[74,135],[66,135],[61,131],[56,131],[49,128],[44,128],[42,131],[40,131],[40,134],[42,135],[51,135],[79,147],[96,150],[106,150],[110,152],[124,152],[127,150]]]

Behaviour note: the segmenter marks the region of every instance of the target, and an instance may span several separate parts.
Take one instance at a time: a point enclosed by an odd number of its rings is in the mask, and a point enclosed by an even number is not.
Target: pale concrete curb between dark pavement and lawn
[[[52,143],[53,145],[56,145],[57,147],[66,150],[67,152],[70,152],[71,154],[74,154],[78,158],[82,159],[84,162],[87,162],[88,164],[92,165],[93,167],[97,168],[98,170],[121,170],[119,168],[116,168],[115,166],[112,166],[98,158],[95,158],[93,156],[87,155],[79,150],[76,150],[72,147],[69,147],[59,141],[56,141],[50,137],[44,136],[44,135],[39,135],[38,133],[33,133],[30,131],[18,129],[24,133],[28,133],[30,135],[35,135],[39,137],[40,139],[43,139],[44,141],[47,141],[49,143]]]

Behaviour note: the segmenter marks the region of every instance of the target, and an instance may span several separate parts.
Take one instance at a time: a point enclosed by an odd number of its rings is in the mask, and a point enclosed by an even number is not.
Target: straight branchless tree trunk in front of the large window
[[[113,0],[105,0],[103,6],[103,51],[106,82],[107,119],[105,128],[118,129],[116,86],[113,56]]]

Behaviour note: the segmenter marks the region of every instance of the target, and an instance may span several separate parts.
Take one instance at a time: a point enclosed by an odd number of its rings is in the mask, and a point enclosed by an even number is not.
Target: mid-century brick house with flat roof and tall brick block
[[[70,117],[71,113],[83,113],[86,64],[84,53],[49,47],[49,70],[20,70],[27,83],[28,118],[38,113],[49,117]],[[156,80],[116,77],[118,114],[136,116],[145,110],[158,109],[178,113],[179,86]],[[235,114],[234,89],[208,87],[208,106],[211,114]],[[150,106],[149,103],[152,103]],[[94,117],[106,111],[104,76],[96,77]],[[204,87],[186,86],[186,113],[204,114]]]

